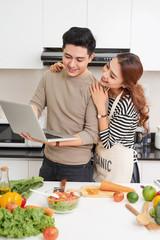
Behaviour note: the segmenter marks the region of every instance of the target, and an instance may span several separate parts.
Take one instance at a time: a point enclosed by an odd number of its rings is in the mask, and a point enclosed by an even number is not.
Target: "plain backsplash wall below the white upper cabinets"
[[[47,69],[45,67],[43,70],[0,70],[0,99],[28,102]],[[97,79],[101,78],[102,67],[89,67],[89,70]],[[150,103],[151,132],[155,132],[156,126],[160,125],[160,72],[144,72],[140,81]],[[0,109],[0,117],[2,116],[3,112]]]

